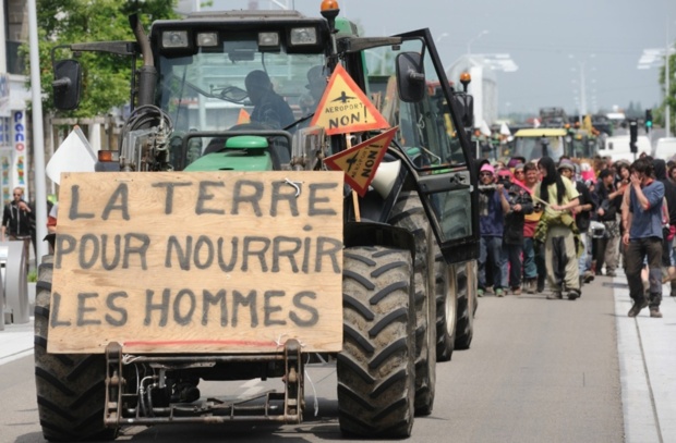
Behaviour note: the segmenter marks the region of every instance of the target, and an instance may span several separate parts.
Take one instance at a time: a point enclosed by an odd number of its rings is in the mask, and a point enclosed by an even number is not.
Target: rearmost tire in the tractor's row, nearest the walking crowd
[[[452,267],[458,294],[458,323],[456,327],[456,349],[469,349],[474,335],[476,312],[476,263],[470,261]]]

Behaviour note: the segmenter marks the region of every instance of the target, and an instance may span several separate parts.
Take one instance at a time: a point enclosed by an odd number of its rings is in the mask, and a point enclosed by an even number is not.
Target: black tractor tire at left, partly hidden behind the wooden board
[[[43,435],[52,442],[114,440],[118,430],[104,426],[104,355],[47,353],[52,274],[53,257],[45,256],[35,299],[35,384]]]

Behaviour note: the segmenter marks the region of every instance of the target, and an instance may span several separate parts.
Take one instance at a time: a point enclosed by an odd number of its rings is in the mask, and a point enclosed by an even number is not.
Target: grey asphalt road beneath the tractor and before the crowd
[[[605,284],[604,284],[605,283]],[[575,302],[545,294],[480,298],[474,341],[437,365],[434,411],[410,442],[621,442],[623,404],[611,279]],[[33,357],[0,366],[0,442],[43,442]],[[131,442],[341,441],[333,367],[310,369],[299,426],[132,427]],[[202,383],[203,396],[245,395],[280,382]],[[316,392],[316,395],[315,395]],[[317,414],[315,415],[315,397]]]

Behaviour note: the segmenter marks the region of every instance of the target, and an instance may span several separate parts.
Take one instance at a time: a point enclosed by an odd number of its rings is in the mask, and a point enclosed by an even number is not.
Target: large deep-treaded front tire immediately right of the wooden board
[[[343,346],[338,354],[340,429],[363,438],[407,438],[414,416],[414,312],[409,251],[343,253]]]

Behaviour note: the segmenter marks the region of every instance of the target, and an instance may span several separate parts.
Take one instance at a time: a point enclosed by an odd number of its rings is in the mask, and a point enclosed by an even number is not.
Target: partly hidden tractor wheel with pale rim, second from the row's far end
[[[436,298],[436,361],[449,361],[456,344],[458,292],[455,274],[444,261],[438,245],[434,245],[434,280]]]

